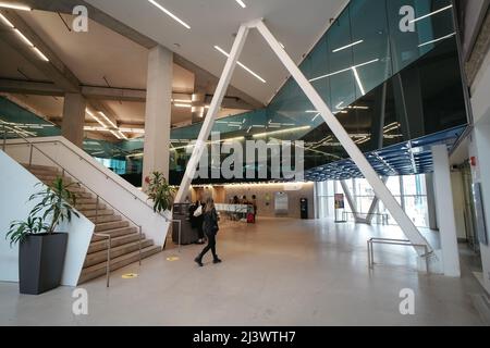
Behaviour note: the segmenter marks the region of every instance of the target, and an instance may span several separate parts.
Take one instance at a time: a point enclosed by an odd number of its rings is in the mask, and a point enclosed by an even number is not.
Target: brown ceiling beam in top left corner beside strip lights
[[[58,88],[66,92],[79,92],[79,82],[76,76],[63,64],[36,32],[15,11],[1,10],[0,12],[49,59],[49,62],[40,59],[34,49],[27,46],[13,29],[0,30],[0,37],[36,66],[49,80],[52,80]]]

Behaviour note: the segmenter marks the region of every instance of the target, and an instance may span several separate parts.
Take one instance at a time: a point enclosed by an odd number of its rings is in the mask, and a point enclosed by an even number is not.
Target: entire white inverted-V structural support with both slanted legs
[[[347,132],[344,129],[342,124],[339,122],[339,120],[336,120],[336,117],[330,111],[329,107],[326,104],[323,99],[321,99],[321,97],[318,95],[318,92],[311,86],[311,84],[308,82],[305,75],[303,75],[301,70],[293,62],[293,60],[287,55],[286,51],[282,48],[281,44],[279,44],[279,41],[274,38],[272,33],[270,33],[269,28],[265,25],[262,20],[256,20],[247,24],[244,24],[241,26],[238,30],[235,42],[233,45],[233,49],[230,53],[226,65],[224,66],[224,71],[221,76],[220,83],[218,84],[217,91],[215,94],[215,98],[212,99],[208,115],[206,116],[206,121],[203,125],[199,138],[193,151],[193,156],[187,164],[184,178],[182,181],[179,194],[176,196],[176,201],[181,202],[185,192],[188,190],[188,187],[197,169],[197,163],[203,154],[205,141],[208,139],[212,124],[216,120],[218,107],[221,103],[223,94],[230,83],[233,70],[236,65],[236,61],[245,44],[245,39],[249,28],[257,28],[258,32],[264,36],[267,44],[278,55],[282,64],[287,69],[290,74],[293,76],[298,86],[305,92],[306,97],[308,97],[309,101],[314,104],[316,110],[321,114],[324,122],[332,130],[333,135],[339,139],[341,145],[347,151],[351,159],[358,166],[359,171],[363,173],[368,183],[371,185],[372,189],[375,190],[375,194],[384,203],[384,207],[387,207],[387,209],[390,211],[393,219],[399,223],[400,227],[402,228],[406,237],[409,239],[409,241],[414,245],[427,246],[427,249],[429,250],[429,252],[431,252],[432,248],[430,247],[429,243],[426,240],[426,238],[424,238],[424,236],[414,225],[408,215],[403,211],[402,207],[399,204],[399,202],[390,192],[388,187],[383,184],[383,182],[379,178],[376,171],[366,160],[365,156],[356,146],[356,144],[351,139],[351,137],[348,136]],[[425,248],[416,248],[416,250],[419,253],[419,256],[424,256],[426,252]]]

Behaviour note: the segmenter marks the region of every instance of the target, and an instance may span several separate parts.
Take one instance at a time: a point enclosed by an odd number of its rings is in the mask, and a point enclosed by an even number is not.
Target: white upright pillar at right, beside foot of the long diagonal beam
[[[444,275],[460,277],[460,253],[457,248],[456,220],[454,217],[454,199],[451,185],[451,171],[445,145],[432,147],[433,188],[439,219],[442,249],[442,270]],[[442,217],[443,216],[443,217]]]

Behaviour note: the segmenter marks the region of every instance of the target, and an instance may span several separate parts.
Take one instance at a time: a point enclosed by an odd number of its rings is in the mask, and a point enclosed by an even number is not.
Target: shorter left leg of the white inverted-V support
[[[215,125],[215,121],[223,101],[224,94],[226,92],[228,86],[230,85],[230,80],[236,67],[238,57],[242,53],[243,47],[247,39],[248,30],[249,28],[247,25],[242,25],[240,27],[238,34],[236,35],[235,42],[233,44],[233,48],[226,60],[226,64],[224,65],[223,73],[221,74],[220,82],[218,83],[218,86],[216,88],[215,96],[212,97],[211,104],[209,105],[208,114],[206,115],[196,145],[194,146],[193,154],[191,156],[187,167],[185,169],[184,178],[182,179],[179,192],[175,196],[175,202],[177,203],[182,203],[184,201],[184,198],[193,182],[194,175],[196,174],[197,164],[199,163],[199,160],[206,148],[206,141],[208,140],[212,126]]]

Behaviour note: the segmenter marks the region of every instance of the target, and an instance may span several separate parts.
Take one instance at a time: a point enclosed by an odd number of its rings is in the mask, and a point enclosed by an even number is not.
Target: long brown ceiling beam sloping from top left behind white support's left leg
[[[112,16],[106,14],[105,12],[98,10],[91,4],[87,3],[83,0],[23,0],[23,3],[29,5],[35,10],[50,11],[50,12],[59,12],[59,13],[68,13],[72,14],[73,9],[76,5],[85,5],[88,10],[88,16],[90,20],[106,26],[107,28],[126,37],[127,39],[147,48],[151,49],[159,45],[155,40],[148,38],[147,36],[136,32],[124,23],[113,18]],[[193,62],[186,60],[177,53],[173,53],[173,61],[175,64],[184,67],[185,70],[194,73],[196,75],[196,79],[205,80],[209,86],[216,88],[218,85],[219,78],[208,71],[199,67]],[[248,103],[249,107],[245,109],[261,109],[265,108],[265,104],[257,99],[248,96],[247,94],[241,91],[240,89],[230,86],[228,88],[228,96],[237,97],[242,99],[244,102]]]

